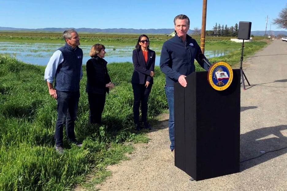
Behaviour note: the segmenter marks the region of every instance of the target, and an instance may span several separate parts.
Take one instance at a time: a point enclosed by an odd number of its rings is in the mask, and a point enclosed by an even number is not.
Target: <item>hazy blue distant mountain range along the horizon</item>
[[[0,27],[0,31],[31,31],[31,32],[63,32],[69,28],[11,28]],[[74,28],[77,32],[86,33],[132,33],[132,34],[170,34],[174,31],[173,28],[159,28],[159,29],[134,29],[134,28]],[[192,34],[194,30],[189,30],[188,34]],[[265,31],[251,31],[251,35],[264,36]],[[266,34],[270,34],[270,31],[266,31]],[[274,35],[286,35],[287,31],[271,31]]]

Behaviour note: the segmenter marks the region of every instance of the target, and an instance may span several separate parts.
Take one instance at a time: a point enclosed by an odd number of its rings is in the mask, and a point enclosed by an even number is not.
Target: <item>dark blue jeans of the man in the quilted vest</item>
[[[56,146],[63,146],[63,127],[66,125],[68,139],[75,141],[75,120],[77,118],[80,92],[64,92],[57,90],[58,118],[55,127]]]

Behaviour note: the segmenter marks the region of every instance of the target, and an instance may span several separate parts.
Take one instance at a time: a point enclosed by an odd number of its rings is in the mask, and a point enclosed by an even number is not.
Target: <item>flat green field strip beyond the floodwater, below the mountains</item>
[[[162,47],[163,43],[172,38],[163,34],[147,34],[152,47]],[[126,46],[136,45],[140,34],[97,34],[97,33],[79,33],[80,42],[82,45],[94,45],[101,43],[104,45]],[[200,36],[193,36],[197,42],[200,42]],[[209,42],[230,41],[230,38],[222,36],[206,36],[206,46]],[[263,37],[264,38],[264,37]],[[262,40],[261,36],[256,36],[253,39]],[[17,42],[17,43],[63,43],[62,33],[55,32],[0,32],[0,42]]]

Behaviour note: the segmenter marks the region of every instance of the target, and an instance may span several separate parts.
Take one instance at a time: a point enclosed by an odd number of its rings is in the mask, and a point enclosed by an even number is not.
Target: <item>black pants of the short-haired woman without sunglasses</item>
[[[105,107],[105,93],[94,94],[88,93],[90,107],[90,122],[91,124],[101,124],[101,114]]]

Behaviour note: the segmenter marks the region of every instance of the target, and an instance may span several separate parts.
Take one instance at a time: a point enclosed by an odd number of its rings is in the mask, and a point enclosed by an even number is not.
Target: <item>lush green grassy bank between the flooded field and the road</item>
[[[264,42],[246,43],[245,56],[265,45]],[[221,60],[235,64],[240,60],[240,51],[211,59],[212,62]],[[117,87],[107,96],[104,125],[88,124],[84,74],[75,127],[84,147],[71,146],[65,140],[65,154],[58,155],[53,141],[56,101],[48,95],[44,67],[0,55],[0,190],[71,189],[92,168],[96,169],[97,182],[109,175],[106,165],[117,163],[125,158],[124,153],[132,152],[130,141],[148,141],[143,133],[136,134],[132,129],[132,64],[112,63],[108,69]],[[159,67],[155,73],[149,119],[167,108],[164,75]]]

